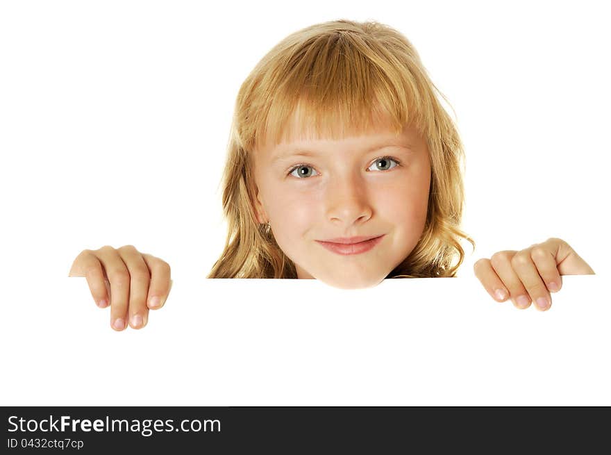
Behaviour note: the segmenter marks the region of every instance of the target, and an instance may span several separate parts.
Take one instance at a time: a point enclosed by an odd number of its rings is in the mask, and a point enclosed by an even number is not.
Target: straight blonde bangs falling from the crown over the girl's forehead
[[[399,134],[407,124],[426,131],[424,120],[430,116],[422,101],[428,96],[421,90],[426,85],[383,45],[334,30],[299,43],[283,57],[268,61],[264,80],[256,83],[265,92],[256,96],[249,128],[241,131],[246,149],[292,140],[342,140],[380,128]]]

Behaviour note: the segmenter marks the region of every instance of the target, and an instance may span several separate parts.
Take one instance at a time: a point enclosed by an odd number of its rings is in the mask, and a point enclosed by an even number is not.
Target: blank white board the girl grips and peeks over
[[[148,325],[123,332],[84,278],[49,281],[52,301],[3,310],[0,403],[609,406],[607,280],[563,281],[539,312],[469,276],[364,290],[174,279]]]

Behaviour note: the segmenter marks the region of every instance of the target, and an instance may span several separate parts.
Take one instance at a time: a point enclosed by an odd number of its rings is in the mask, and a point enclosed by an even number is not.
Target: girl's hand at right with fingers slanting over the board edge
[[[484,288],[496,301],[511,297],[514,306],[546,311],[551,306],[549,292],[562,287],[560,275],[592,275],[594,270],[560,238],[550,238],[521,251],[499,251],[473,266]]]

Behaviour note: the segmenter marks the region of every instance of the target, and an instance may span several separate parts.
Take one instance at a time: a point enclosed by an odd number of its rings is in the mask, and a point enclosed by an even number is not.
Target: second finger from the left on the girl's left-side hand
[[[129,271],[116,249],[101,247],[96,251],[110,283],[110,325],[121,331],[126,327],[129,303]]]

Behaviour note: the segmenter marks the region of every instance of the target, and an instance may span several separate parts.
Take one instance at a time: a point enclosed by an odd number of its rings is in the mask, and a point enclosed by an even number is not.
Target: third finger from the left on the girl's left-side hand
[[[147,308],[147,294],[151,282],[149,267],[144,263],[140,251],[133,245],[121,247],[117,252],[127,266],[130,276],[129,325],[132,329],[142,329],[149,320],[149,308]]]

